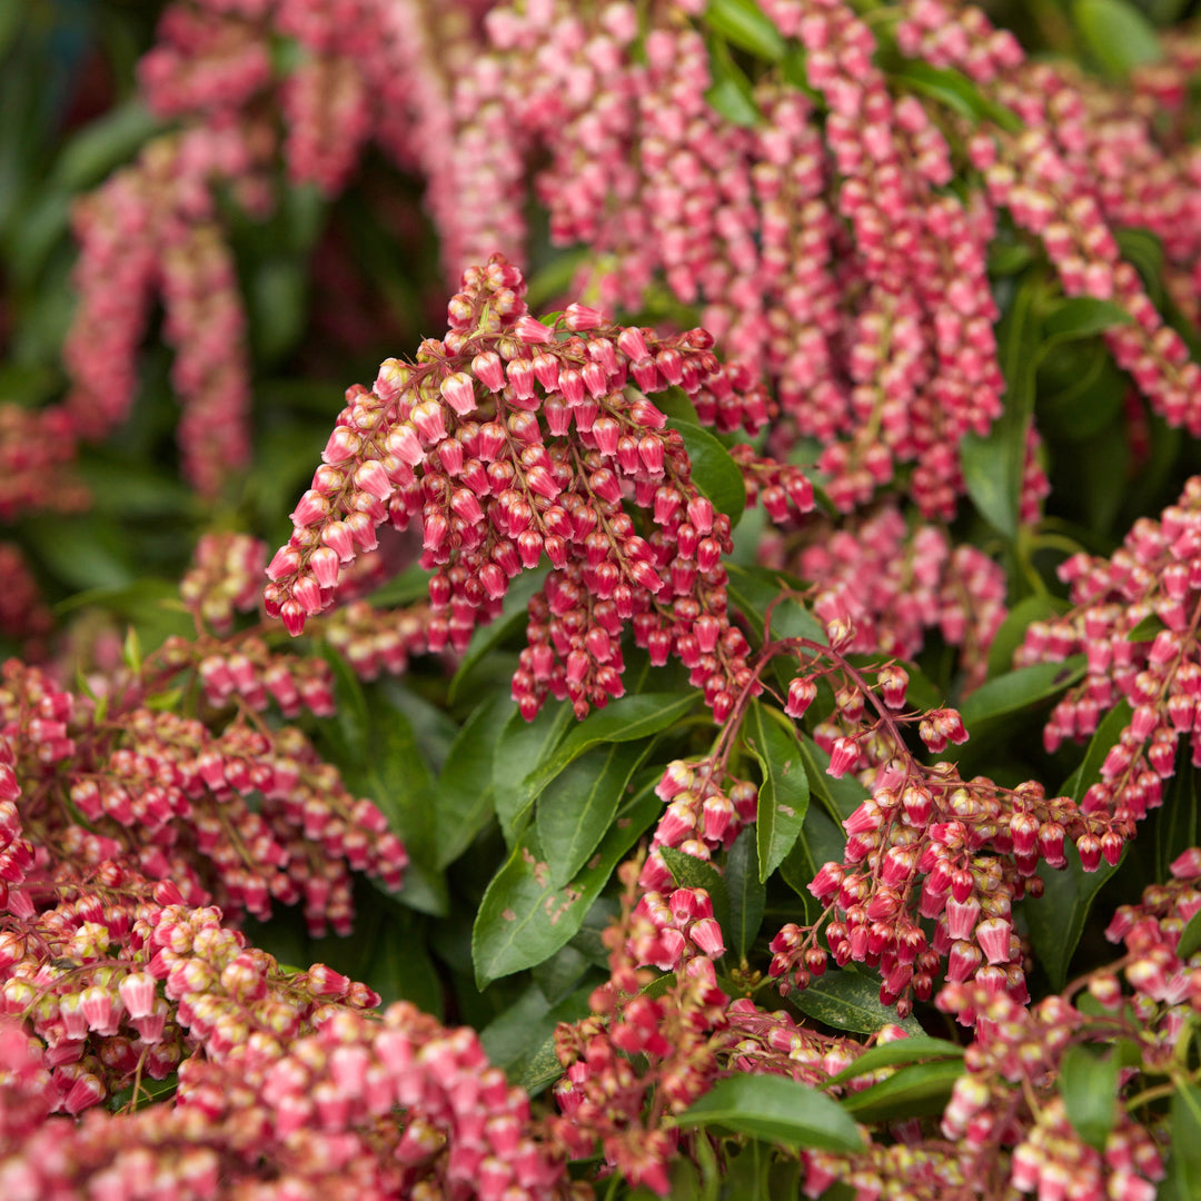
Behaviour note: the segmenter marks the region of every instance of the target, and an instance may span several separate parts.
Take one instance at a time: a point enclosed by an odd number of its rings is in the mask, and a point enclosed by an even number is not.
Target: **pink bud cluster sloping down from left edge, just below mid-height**
[[[100,716],[36,669],[4,665],[0,731],[40,838],[80,865],[121,859],[171,878],[190,902],[215,895],[232,913],[303,898],[315,936],[327,921],[349,932],[351,871],[400,886],[404,846],[300,730],[239,718],[214,734],[142,699]]]

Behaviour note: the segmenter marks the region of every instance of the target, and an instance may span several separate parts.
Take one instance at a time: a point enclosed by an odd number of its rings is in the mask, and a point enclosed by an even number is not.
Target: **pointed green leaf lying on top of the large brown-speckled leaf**
[[[538,799],[538,841],[550,882],[566,884],[596,850],[634,772],[651,751],[650,740],[593,747],[546,787]]]

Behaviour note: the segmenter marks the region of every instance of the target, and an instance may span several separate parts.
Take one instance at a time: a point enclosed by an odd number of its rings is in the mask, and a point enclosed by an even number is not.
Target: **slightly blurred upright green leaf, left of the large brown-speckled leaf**
[[[434,844],[438,867],[453,864],[492,815],[496,743],[513,716],[513,703],[492,693],[462,724],[437,783]]]

